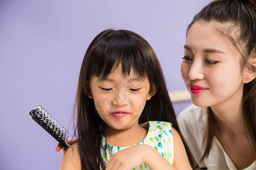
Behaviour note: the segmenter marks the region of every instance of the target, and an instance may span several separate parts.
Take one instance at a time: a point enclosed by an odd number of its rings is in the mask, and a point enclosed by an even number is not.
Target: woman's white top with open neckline
[[[237,169],[216,137],[213,138],[209,156],[200,162],[204,154],[203,139],[207,122],[207,108],[199,108],[192,104],[177,116],[177,121],[181,133],[200,168]],[[256,161],[243,170],[252,169],[256,169]]]

